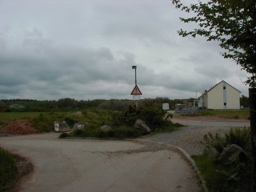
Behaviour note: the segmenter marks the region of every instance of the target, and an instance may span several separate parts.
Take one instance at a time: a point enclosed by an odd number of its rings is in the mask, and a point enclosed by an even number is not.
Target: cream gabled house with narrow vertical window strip
[[[240,91],[225,81],[212,86],[198,97],[198,107],[207,109],[240,109]]]

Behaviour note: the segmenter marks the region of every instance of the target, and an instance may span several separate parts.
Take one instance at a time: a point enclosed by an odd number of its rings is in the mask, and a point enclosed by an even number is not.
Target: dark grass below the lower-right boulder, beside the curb
[[[231,166],[221,166],[206,152],[192,156],[209,191],[250,191],[252,163],[237,161]]]

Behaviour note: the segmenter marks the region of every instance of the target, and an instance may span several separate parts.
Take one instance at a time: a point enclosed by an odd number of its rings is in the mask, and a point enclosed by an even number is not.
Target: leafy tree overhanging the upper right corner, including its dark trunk
[[[205,36],[207,41],[216,40],[224,50],[221,55],[241,65],[250,77],[244,82],[249,89],[250,122],[252,132],[252,191],[256,191],[256,1],[255,0],[198,0],[185,6],[180,0],[172,0],[176,8],[193,12],[195,16],[180,18],[182,22],[198,23],[193,31],[178,31],[181,36]]]

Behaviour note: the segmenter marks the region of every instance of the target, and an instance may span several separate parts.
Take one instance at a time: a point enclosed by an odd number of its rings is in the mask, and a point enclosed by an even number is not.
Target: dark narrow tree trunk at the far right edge
[[[250,123],[252,132],[252,191],[256,191],[256,88],[249,88]]]

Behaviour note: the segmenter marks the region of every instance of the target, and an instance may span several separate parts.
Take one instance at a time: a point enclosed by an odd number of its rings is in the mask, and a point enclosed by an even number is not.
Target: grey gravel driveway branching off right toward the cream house
[[[173,132],[164,132],[147,136],[143,139],[175,145],[185,150],[189,155],[201,154],[204,145],[200,143],[208,132],[225,134],[231,127],[249,127],[249,120],[231,120],[227,118],[202,118],[188,116],[173,118],[172,122],[185,125]]]

